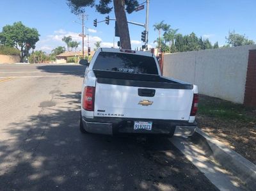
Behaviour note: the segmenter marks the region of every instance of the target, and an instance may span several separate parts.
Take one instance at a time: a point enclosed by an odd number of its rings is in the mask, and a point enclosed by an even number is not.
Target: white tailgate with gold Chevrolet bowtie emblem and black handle
[[[139,83],[139,82],[138,82]],[[193,90],[96,82],[95,117],[189,120]],[[128,83],[129,84],[129,83]]]

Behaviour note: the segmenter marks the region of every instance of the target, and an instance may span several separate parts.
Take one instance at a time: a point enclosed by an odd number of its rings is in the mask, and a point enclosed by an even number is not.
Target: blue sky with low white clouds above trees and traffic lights
[[[138,0],[143,3],[145,0]],[[149,44],[155,47],[154,40],[157,31],[153,25],[164,20],[173,28],[179,29],[179,33],[196,33],[197,36],[209,38],[219,45],[225,44],[225,36],[228,30],[236,30],[237,33],[246,34],[248,38],[256,42],[256,1],[255,0],[150,0],[149,7]],[[100,40],[102,46],[113,46],[115,23],[107,26],[104,22],[93,27],[93,19],[104,20],[107,15],[100,15],[95,8],[86,8],[88,20],[86,27],[90,28],[90,47]],[[113,12],[110,18],[114,19]],[[74,40],[81,42],[78,34],[81,26],[72,21],[79,22],[76,15],[71,13],[66,0],[1,0],[0,1],[0,31],[6,24],[22,21],[29,27],[35,27],[40,33],[40,41],[36,43],[36,49],[51,52],[61,42],[64,35],[71,35]],[[145,10],[127,14],[127,19],[134,22],[145,22]],[[132,47],[139,47],[141,31],[143,27],[129,24]],[[115,38],[117,41],[118,38]],[[87,42],[85,43],[87,47]],[[81,47],[79,47],[81,49]]]

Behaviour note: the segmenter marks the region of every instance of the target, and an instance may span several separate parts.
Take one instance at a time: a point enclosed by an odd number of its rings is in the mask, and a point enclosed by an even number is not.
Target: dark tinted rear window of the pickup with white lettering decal
[[[154,57],[117,52],[100,52],[93,70],[158,75]]]

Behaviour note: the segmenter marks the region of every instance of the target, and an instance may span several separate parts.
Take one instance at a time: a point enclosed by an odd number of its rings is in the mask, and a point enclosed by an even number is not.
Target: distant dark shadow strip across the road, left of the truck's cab
[[[86,66],[84,65],[44,65],[36,66],[38,70],[47,73],[63,73],[65,75],[83,76]]]

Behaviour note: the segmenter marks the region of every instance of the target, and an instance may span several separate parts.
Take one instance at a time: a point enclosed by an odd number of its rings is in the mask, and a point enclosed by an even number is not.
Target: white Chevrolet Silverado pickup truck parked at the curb
[[[100,48],[84,74],[80,130],[190,136],[197,106],[197,86],[163,77],[153,54]]]

